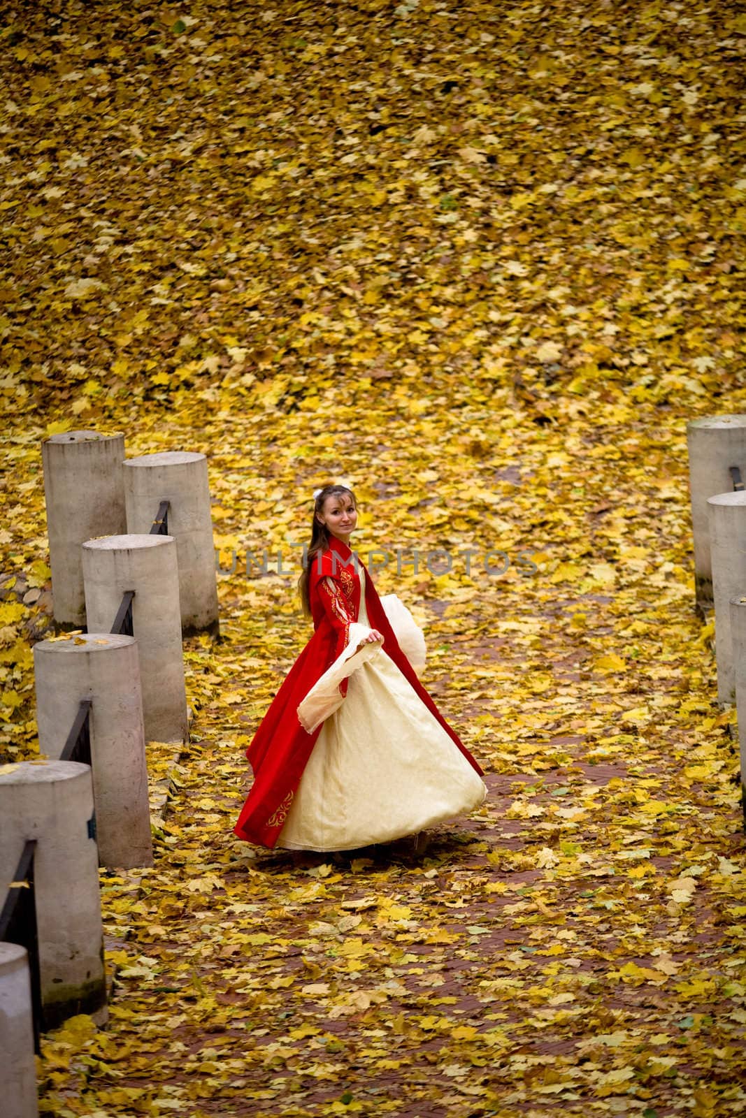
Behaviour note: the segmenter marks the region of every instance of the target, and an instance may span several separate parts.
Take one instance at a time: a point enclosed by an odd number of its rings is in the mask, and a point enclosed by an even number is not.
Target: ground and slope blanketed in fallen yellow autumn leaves
[[[684,427],[746,409],[744,16],[248,7],[0,3],[3,757],[35,751],[45,436],[204,451],[221,565],[155,866],[102,874],[110,1024],[46,1038],[41,1111],[742,1114]],[[490,796],[301,869],[232,826],[330,480]]]

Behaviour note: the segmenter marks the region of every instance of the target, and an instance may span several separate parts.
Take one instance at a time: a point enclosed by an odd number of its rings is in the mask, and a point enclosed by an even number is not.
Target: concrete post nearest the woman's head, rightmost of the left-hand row
[[[161,501],[169,501],[169,536],[179,555],[181,629],[219,633],[218,591],[207,458],[166,451],[124,463],[128,532],[149,532]]]

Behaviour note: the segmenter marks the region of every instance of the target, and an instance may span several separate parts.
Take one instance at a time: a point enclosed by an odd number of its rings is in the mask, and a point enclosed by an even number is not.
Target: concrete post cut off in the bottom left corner
[[[0,944],[0,1090],[3,1118],[37,1118],[31,982],[17,944]]]

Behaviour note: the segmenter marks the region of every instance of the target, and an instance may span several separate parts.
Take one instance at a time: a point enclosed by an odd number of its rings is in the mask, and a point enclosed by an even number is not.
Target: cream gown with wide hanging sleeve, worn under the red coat
[[[484,799],[478,773],[380,644],[355,653],[370,632],[362,570],[360,580],[349,644],[299,707],[306,729],[321,720],[323,726],[278,846],[333,851],[390,842]]]

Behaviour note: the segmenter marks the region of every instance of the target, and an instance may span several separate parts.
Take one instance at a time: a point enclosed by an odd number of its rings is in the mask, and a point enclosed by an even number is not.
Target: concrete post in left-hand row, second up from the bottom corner
[[[93,785],[87,765],[21,761],[0,766],[0,881],[12,881],[36,839],[43,1031],[88,1013],[106,1020],[104,940]]]

